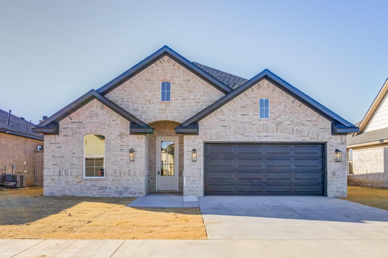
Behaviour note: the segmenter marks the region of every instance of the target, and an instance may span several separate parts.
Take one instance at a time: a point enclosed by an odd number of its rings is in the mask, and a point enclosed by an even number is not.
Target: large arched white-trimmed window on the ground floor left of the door
[[[105,177],[105,136],[87,134],[83,137],[83,177]]]

